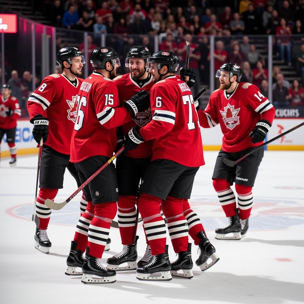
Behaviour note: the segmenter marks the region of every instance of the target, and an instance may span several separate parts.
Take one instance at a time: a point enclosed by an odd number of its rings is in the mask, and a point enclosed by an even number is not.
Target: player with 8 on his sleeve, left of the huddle
[[[30,95],[27,109],[30,122],[34,124],[33,137],[37,143],[43,138],[40,167],[39,194],[36,212],[40,226],[36,228],[35,247],[49,253],[51,242],[47,236],[51,210],[44,205],[46,199],[54,199],[58,189],[63,188],[64,171],[80,180],[74,164],[70,163],[71,135],[76,118],[76,97],[81,86],[81,69],[85,63],[81,52],[75,47],[58,51],[57,63],[62,74],[51,74],[43,79],[39,88]],[[50,124],[50,128],[49,128]],[[81,199],[81,204],[85,204]]]

